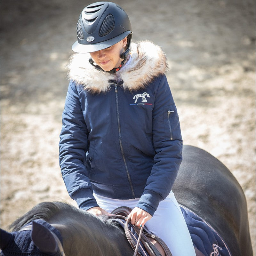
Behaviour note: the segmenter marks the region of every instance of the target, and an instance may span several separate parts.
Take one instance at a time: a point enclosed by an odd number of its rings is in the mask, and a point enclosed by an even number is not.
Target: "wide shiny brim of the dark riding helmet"
[[[106,49],[118,42],[120,42],[122,39],[124,39],[126,36],[128,36],[132,31],[125,31],[119,36],[116,36],[114,38],[111,38],[107,41],[96,43],[96,44],[79,44],[78,41],[76,41],[72,45],[72,51],[77,53],[90,53],[90,52],[97,52],[103,49]]]

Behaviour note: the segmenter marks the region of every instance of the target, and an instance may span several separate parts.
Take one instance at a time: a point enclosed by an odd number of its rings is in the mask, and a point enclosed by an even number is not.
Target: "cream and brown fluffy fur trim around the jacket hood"
[[[145,88],[156,76],[163,75],[167,69],[167,59],[160,46],[149,41],[132,43],[132,61],[124,65],[116,74],[94,68],[89,63],[90,54],[75,53],[68,64],[68,78],[77,84],[83,84],[84,89],[94,93],[107,92],[110,89],[109,80],[123,80],[124,90]]]

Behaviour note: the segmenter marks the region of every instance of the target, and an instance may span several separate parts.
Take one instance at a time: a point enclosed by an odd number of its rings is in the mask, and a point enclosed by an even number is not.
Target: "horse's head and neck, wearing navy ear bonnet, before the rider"
[[[66,256],[133,255],[117,223],[61,202],[36,205],[11,228],[11,233],[1,229],[1,256],[64,256],[60,245]]]

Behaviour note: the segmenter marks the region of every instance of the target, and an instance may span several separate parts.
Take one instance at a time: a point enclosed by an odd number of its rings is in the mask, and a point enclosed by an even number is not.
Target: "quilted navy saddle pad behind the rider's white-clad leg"
[[[205,256],[232,256],[221,236],[196,213],[180,205],[194,246]]]

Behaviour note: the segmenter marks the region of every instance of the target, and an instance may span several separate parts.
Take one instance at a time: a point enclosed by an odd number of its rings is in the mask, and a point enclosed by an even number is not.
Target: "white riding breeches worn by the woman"
[[[139,198],[120,200],[95,194],[94,197],[100,208],[107,212],[120,206],[133,209],[139,202]],[[160,202],[152,219],[145,226],[167,244],[173,256],[196,256],[186,222],[172,191]]]

